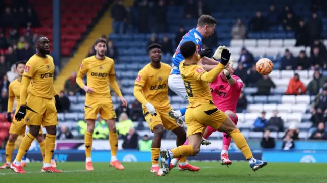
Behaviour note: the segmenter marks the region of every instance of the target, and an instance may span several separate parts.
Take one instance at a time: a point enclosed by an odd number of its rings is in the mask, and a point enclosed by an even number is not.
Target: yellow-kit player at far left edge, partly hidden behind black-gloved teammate
[[[0,167],[0,169],[9,169],[12,159],[12,154],[14,152],[15,148],[15,142],[17,140],[17,137],[20,135],[25,134],[25,124],[22,121],[16,121],[15,119],[11,119],[11,113],[14,106],[14,101],[16,98],[17,106],[15,112],[18,111],[20,107],[20,86],[21,86],[21,78],[22,73],[24,72],[25,68],[25,62],[17,62],[16,63],[16,72],[18,75],[18,78],[10,83],[9,85],[9,100],[8,100],[8,113],[7,113],[7,121],[11,123],[10,130],[9,130],[9,138],[6,145],[6,163]],[[44,157],[44,151],[45,151],[45,141],[42,135],[42,132],[40,130],[40,133],[36,137],[36,140],[38,141],[40,145],[40,150],[42,153],[42,157]]]

